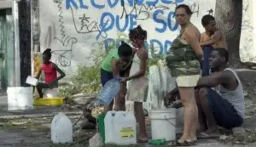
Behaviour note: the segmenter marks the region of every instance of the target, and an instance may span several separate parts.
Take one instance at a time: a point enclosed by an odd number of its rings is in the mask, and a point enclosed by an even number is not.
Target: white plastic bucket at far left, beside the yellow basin
[[[8,110],[27,110],[33,108],[32,87],[7,88]]]

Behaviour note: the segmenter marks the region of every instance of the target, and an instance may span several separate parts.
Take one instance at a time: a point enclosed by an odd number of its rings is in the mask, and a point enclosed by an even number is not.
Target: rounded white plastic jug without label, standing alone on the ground
[[[64,113],[54,116],[51,122],[51,141],[54,144],[73,142],[73,125]]]

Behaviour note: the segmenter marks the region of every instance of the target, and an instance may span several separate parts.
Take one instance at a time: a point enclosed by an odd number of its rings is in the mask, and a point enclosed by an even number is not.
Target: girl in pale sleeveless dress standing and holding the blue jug
[[[147,39],[147,31],[144,31],[140,25],[132,29],[129,34],[132,45],[137,48],[131,65],[130,76],[122,79],[122,82],[129,81],[127,100],[134,101],[134,110],[139,123],[140,135],[137,142],[148,142],[146,133],[145,118],[143,114],[143,102],[148,94],[148,78],[146,76],[148,52],[144,47],[144,41]]]

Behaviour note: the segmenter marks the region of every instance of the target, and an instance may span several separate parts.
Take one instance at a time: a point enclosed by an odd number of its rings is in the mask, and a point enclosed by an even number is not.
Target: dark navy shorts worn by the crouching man
[[[241,127],[243,118],[227,99],[223,99],[216,91],[212,90],[212,88],[207,89],[207,95],[208,104],[218,126],[228,129]]]

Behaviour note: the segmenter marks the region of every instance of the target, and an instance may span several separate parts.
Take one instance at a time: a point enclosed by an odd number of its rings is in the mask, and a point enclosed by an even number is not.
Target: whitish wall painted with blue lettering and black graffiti
[[[81,3],[82,2],[82,3]],[[95,2],[95,3],[91,3]],[[148,31],[148,48],[151,54],[164,54],[177,37],[179,28],[173,18],[176,4],[186,3],[194,11],[192,22],[204,31],[201,17],[214,14],[215,0],[39,0],[40,48],[54,50],[53,61],[72,75],[77,65],[90,64],[91,51],[103,52],[119,38],[127,39],[128,31],[142,25]],[[174,3],[176,2],[176,3]],[[253,4],[254,3],[254,4]],[[156,4],[148,6],[148,4]],[[241,59],[252,60],[256,56],[255,1],[244,0],[244,17],[241,33]],[[253,48],[254,43],[254,48]],[[250,55],[250,56],[248,56]],[[254,59],[255,61],[255,59]]]

